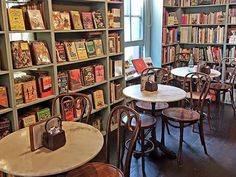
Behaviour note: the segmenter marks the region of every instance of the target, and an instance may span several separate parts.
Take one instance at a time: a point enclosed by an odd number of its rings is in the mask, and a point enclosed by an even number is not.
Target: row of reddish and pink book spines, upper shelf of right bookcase
[[[225,12],[182,14],[181,23],[186,24],[223,24]]]

